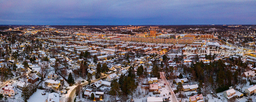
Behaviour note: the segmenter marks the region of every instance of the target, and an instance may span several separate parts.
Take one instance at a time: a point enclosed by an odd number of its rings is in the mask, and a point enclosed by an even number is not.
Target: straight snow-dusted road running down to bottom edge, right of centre
[[[172,95],[171,95],[171,96],[172,96],[172,97],[171,97],[171,102],[178,102],[177,97],[176,97],[176,95],[174,94],[170,83],[166,80],[166,78],[165,78],[163,72],[161,72],[160,75],[161,75],[162,80],[163,80],[164,83],[166,84],[165,87],[169,88],[169,92],[172,93]]]

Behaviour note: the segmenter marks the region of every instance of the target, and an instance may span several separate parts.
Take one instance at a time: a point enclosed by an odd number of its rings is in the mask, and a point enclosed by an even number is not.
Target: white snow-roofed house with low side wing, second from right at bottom
[[[229,87],[229,90],[223,92],[223,97],[230,100],[231,98],[242,98],[244,96],[243,93],[234,90],[232,87]]]

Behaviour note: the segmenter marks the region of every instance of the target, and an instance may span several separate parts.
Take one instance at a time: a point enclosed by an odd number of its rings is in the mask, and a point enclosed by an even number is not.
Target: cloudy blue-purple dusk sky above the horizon
[[[0,0],[0,25],[256,24],[256,0]]]

